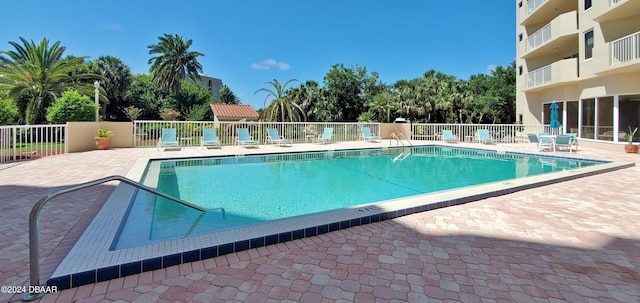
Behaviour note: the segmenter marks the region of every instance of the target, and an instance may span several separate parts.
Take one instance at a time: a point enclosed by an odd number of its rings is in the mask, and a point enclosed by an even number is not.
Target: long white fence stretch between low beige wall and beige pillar
[[[265,144],[267,128],[276,128],[280,136],[293,143],[311,142],[321,135],[325,127],[333,128],[333,141],[361,140],[360,128],[369,126],[380,133],[379,123],[334,122],[213,122],[213,121],[143,121],[134,122],[134,147],[155,147],[163,128],[176,128],[181,146],[200,146],[202,129],[214,127],[222,145],[236,144],[236,129],[248,128],[259,144]]]

